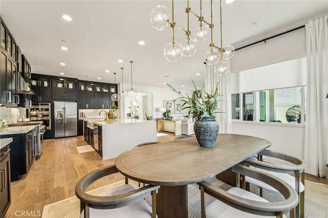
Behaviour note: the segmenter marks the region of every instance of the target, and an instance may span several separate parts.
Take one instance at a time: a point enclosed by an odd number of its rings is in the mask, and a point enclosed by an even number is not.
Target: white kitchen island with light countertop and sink
[[[116,158],[122,152],[144,142],[156,142],[156,121],[139,119],[85,119],[98,128],[94,148],[103,160]]]

